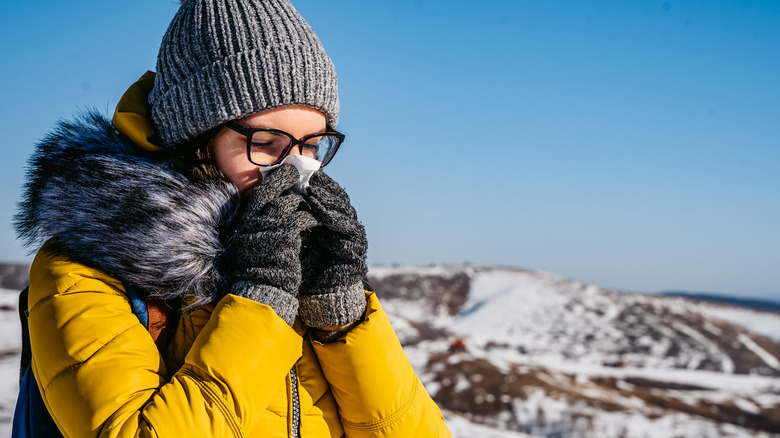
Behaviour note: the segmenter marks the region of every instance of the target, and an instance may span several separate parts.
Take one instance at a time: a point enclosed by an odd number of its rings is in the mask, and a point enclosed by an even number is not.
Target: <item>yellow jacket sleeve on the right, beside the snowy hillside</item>
[[[365,320],[332,343],[312,341],[350,438],[444,438],[452,434],[412,369],[376,295]]]

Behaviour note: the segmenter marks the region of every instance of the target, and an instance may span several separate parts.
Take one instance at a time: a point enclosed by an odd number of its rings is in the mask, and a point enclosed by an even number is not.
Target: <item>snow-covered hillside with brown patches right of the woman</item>
[[[780,314],[517,269],[369,275],[429,392],[472,421],[534,436],[780,433]]]

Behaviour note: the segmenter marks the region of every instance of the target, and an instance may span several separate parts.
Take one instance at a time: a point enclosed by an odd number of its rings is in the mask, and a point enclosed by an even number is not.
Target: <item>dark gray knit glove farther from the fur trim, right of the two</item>
[[[309,184],[309,205],[322,226],[304,232],[298,315],[309,327],[350,324],[366,310],[366,230],[347,193],[329,176],[318,171]]]

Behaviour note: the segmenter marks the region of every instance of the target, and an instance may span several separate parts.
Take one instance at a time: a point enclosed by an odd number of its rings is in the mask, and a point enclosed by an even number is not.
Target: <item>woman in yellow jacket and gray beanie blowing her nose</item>
[[[288,2],[189,0],[112,123],[38,145],[17,226],[45,242],[32,370],[64,436],[451,436],[362,286],[346,193],[282,163],[327,164],[338,110]]]

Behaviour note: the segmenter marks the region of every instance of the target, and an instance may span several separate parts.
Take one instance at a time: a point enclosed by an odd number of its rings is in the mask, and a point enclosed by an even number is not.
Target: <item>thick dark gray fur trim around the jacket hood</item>
[[[14,218],[33,251],[47,248],[159,298],[190,306],[226,284],[233,184],[193,182],[146,157],[95,111],[61,121],[36,147]]]

